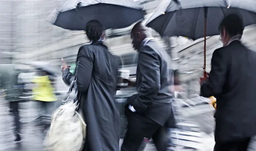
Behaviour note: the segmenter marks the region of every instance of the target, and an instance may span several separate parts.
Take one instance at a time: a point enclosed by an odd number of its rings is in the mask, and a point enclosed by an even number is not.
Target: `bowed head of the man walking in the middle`
[[[150,31],[141,21],[136,23],[131,29],[132,44],[137,50],[140,49],[142,41],[148,37],[151,37]]]

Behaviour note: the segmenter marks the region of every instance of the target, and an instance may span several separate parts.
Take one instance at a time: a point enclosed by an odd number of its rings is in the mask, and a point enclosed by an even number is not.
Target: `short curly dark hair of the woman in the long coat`
[[[98,41],[105,28],[98,20],[90,20],[85,26],[85,32],[90,41]]]

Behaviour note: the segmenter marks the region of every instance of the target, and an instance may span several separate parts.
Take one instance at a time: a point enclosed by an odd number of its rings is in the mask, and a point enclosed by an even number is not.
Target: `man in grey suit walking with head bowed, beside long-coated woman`
[[[172,115],[173,70],[169,55],[154,42],[147,27],[137,23],[131,31],[137,49],[137,91],[128,98],[127,131],[121,151],[138,151],[143,139],[154,140],[158,151],[166,151],[166,122]]]

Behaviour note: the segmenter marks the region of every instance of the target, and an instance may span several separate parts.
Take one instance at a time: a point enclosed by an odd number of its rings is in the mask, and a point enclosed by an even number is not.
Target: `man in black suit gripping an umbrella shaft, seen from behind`
[[[201,82],[201,96],[215,96],[215,151],[246,151],[256,135],[256,53],[241,44],[244,27],[237,15],[222,20],[223,47],[212,55],[212,69]]]

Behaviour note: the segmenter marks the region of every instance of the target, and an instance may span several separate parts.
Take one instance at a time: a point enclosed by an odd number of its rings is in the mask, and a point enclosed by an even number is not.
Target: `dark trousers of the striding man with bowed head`
[[[144,138],[152,138],[158,151],[167,149],[167,128],[159,125],[142,113],[132,112],[125,107],[128,125],[126,128],[121,151],[138,151]]]

